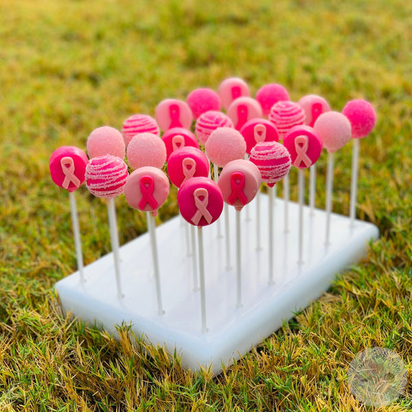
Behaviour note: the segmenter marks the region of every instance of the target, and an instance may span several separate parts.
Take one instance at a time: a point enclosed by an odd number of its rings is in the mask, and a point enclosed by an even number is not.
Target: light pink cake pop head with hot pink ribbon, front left
[[[160,169],[145,166],[128,176],[124,186],[126,202],[133,209],[150,211],[157,216],[157,211],[168,198],[170,183]]]

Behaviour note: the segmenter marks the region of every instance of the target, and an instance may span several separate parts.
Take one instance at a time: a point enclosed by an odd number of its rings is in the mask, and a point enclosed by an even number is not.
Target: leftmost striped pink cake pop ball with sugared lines
[[[86,167],[86,186],[94,196],[115,198],[123,193],[127,176],[127,165],[119,157],[93,157]]]

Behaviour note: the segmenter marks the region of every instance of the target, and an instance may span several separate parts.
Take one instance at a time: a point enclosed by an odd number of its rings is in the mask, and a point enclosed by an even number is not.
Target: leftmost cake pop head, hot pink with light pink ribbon
[[[54,150],[49,160],[52,181],[74,192],[84,182],[87,163],[89,159],[86,154],[75,146],[62,146]]]

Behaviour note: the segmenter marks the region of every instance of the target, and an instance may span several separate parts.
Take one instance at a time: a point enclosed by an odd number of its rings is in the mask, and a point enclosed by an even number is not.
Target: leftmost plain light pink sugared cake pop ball
[[[124,159],[126,146],[122,133],[110,126],[99,127],[87,138],[87,154],[93,157],[112,155]]]

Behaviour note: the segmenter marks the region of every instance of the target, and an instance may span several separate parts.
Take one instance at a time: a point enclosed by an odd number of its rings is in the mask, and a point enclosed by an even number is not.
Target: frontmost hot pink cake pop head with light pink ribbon
[[[194,177],[181,185],[177,192],[177,204],[181,215],[191,225],[210,225],[222,213],[222,192],[211,179]]]

